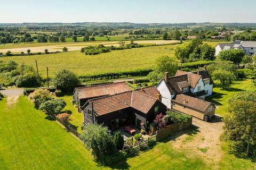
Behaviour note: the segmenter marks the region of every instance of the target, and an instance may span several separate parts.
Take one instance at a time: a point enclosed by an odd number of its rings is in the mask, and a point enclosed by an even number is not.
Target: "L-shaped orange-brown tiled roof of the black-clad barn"
[[[142,113],[147,114],[149,109],[153,107],[156,101],[156,98],[148,96],[139,91],[127,91],[121,94],[88,100],[90,105],[93,106],[93,110],[99,116],[128,107],[132,107]]]

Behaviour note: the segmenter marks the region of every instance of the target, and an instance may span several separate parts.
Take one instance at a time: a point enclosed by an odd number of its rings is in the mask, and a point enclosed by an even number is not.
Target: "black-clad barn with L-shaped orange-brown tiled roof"
[[[155,87],[90,99],[82,109],[84,123],[97,122],[110,130],[129,124],[148,129],[157,113],[166,112]]]

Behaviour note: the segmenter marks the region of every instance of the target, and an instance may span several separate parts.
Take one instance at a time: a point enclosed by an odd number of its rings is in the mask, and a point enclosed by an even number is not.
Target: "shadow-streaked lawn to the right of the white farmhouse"
[[[212,96],[206,100],[217,104],[215,113],[225,116],[228,114],[228,99],[239,91],[252,90],[252,80],[237,80],[227,89],[214,86]]]

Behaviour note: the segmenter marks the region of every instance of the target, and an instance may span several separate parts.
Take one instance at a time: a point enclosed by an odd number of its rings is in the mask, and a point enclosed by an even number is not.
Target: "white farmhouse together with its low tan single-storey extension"
[[[207,110],[213,105],[204,101],[205,97],[212,95],[213,89],[213,81],[206,66],[204,70],[196,72],[177,71],[174,77],[169,77],[165,72],[164,79],[157,85],[157,89],[162,96],[162,103],[169,109],[202,120],[205,115],[214,115],[214,108]]]

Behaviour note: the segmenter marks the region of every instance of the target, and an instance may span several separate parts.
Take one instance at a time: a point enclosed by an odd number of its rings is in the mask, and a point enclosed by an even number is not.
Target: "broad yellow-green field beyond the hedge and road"
[[[0,60],[13,60],[19,64],[28,64],[35,67],[38,63],[39,74],[46,77],[46,67],[49,67],[51,77],[58,69],[70,69],[78,75],[131,71],[151,68],[155,60],[163,55],[173,56],[175,45],[154,46],[115,50],[99,55],[85,55],[79,51],[59,54],[1,57]]]

